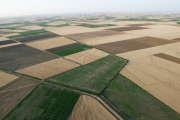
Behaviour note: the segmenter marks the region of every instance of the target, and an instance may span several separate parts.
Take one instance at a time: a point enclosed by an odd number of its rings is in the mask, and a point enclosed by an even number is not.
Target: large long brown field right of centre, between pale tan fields
[[[96,45],[95,47],[110,52],[112,54],[119,54],[134,50],[140,50],[140,49],[170,44],[174,42],[177,41],[170,41],[170,40],[153,38],[153,37],[141,37],[141,38],[129,39],[119,42]]]

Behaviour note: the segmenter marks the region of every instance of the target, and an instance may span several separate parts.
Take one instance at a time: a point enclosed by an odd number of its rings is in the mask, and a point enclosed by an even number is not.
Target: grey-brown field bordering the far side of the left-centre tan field
[[[58,57],[48,53],[40,53],[32,56],[27,56],[7,62],[0,63],[0,68],[16,71],[20,70],[32,65],[37,65],[43,62],[47,62],[53,59],[57,59]]]

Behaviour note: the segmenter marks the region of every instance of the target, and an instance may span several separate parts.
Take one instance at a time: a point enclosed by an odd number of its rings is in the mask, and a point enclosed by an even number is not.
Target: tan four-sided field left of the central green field
[[[23,73],[29,76],[46,79],[62,72],[71,70],[80,66],[63,58],[54,59],[48,62],[33,65],[16,72]]]

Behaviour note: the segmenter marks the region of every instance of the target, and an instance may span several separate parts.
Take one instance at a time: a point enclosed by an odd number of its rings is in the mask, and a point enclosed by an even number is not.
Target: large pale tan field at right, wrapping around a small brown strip
[[[180,64],[153,55],[157,53],[169,53],[178,56],[179,45],[180,43],[172,43],[118,54],[118,56],[130,60],[121,71],[121,74],[178,113],[180,113]]]

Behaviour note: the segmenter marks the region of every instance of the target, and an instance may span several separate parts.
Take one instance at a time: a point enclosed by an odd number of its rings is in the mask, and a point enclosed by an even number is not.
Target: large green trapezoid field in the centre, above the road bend
[[[125,64],[126,60],[109,55],[46,81],[98,94]]]

